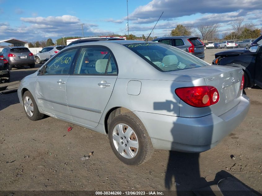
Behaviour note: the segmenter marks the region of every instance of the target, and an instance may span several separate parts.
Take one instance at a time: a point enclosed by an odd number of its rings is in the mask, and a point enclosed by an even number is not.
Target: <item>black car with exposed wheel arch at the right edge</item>
[[[258,85],[262,88],[262,45],[251,46],[249,50],[234,49],[215,54],[212,64],[242,68],[244,88]]]

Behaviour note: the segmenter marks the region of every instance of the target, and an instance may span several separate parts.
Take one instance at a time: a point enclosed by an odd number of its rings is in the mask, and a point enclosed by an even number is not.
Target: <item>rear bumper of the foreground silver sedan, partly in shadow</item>
[[[223,115],[183,118],[134,111],[143,121],[154,148],[199,153],[216,146],[245,119],[250,100],[241,96],[237,106]]]

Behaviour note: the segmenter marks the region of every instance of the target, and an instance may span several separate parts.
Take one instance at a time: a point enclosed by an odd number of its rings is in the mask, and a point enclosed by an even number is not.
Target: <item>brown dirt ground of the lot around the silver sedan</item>
[[[215,52],[205,51],[208,63]],[[12,70],[11,81],[37,70],[25,68]],[[222,172],[262,191],[262,89],[245,92],[251,99],[246,119],[215,148],[199,155],[155,150],[137,167],[115,157],[106,135],[52,117],[33,122],[17,93],[2,94],[0,190],[192,190]]]

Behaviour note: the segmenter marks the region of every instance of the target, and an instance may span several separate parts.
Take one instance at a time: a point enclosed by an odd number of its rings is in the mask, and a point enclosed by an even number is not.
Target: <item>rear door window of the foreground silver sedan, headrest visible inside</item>
[[[105,48],[82,48],[74,74],[117,74],[115,61],[109,50]]]

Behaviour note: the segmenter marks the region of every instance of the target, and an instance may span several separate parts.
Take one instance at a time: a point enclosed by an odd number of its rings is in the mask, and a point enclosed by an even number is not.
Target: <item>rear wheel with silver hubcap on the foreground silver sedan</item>
[[[127,165],[140,165],[153,154],[144,125],[132,112],[117,115],[109,124],[108,135],[114,154]]]

